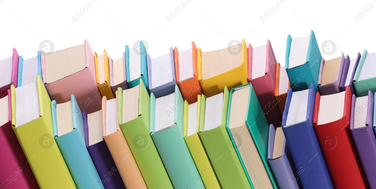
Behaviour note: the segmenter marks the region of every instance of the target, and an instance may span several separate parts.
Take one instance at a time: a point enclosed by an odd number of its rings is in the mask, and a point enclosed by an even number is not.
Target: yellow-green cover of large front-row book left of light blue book
[[[40,188],[50,189],[56,188],[56,186],[76,188],[59,147],[55,144],[52,130],[51,100],[47,90],[45,90],[39,76],[35,83],[30,84],[36,85],[36,89],[33,90],[37,90],[38,94],[39,117],[23,125],[18,125],[16,122],[16,118],[22,118],[16,114],[16,89],[11,87],[12,127],[18,142],[21,144]],[[17,98],[26,98],[26,95]]]

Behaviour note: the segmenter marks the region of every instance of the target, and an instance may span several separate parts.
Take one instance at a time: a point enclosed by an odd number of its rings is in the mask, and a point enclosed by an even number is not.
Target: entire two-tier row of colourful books
[[[151,58],[82,45],[0,60],[0,188],[370,188],[376,53],[314,32]],[[376,94],[375,94],[376,95]],[[18,181],[15,181],[16,178]]]

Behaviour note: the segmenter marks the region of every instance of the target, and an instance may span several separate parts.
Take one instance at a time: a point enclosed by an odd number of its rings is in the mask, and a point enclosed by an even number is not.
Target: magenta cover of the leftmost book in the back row
[[[16,48],[13,48],[13,55],[12,57],[6,58],[5,60],[0,60],[0,62],[8,61],[8,59],[12,59],[12,75],[11,75],[11,82],[5,86],[1,86],[0,88],[0,98],[3,98],[8,95],[8,90],[11,89],[11,85],[13,84],[14,87],[17,87],[18,81],[18,59],[20,56],[17,53]],[[3,73],[2,73],[3,74]]]

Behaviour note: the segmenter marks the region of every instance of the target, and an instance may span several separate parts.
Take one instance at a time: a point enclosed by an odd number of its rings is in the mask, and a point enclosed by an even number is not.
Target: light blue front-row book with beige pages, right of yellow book
[[[78,189],[104,189],[86,148],[83,117],[74,95],[71,101],[52,101],[52,128],[56,143]]]

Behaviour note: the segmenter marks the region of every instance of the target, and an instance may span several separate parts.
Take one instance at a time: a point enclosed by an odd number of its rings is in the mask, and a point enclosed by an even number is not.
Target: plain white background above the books
[[[106,48],[117,59],[126,44],[132,48],[139,39],[147,42],[153,58],[167,54],[171,46],[188,49],[191,41],[202,51],[211,51],[244,38],[253,47],[270,39],[277,61],[285,65],[287,35],[306,36],[311,29],[319,46],[328,39],[337,45],[334,54],[321,53],[326,60],[339,57],[341,51],[350,58],[363,49],[376,52],[376,7],[368,7],[358,23],[354,18],[370,3],[376,5],[376,0],[281,1],[0,0],[0,60],[11,56],[13,47],[25,59],[34,57],[45,39],[53,42],[55,50],[88,39],[92,51],[102,54]],[[88,3],[92,7],[86,7],[74,23],[72,17]],[[186,7],[180,7],[182,11],[168,23],[166,16],[182,3]],[[276,11],[262,23],[260,16],[272,7]]]

